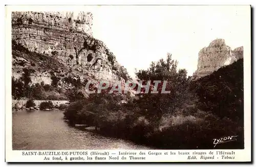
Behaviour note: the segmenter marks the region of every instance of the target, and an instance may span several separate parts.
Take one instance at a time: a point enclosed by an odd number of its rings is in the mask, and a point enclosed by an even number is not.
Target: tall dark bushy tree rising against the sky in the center
[[[150,80],[153,86],[154,80],[161,81],[157,88],[158,94],[152,94],[153,89],[144,94],[145,89],[143,89],[142,93],[138,94],[139,100],[137,101],[143,114],[156,124],[164,113],[174,113],[178,108],[186,105],[192,96],[189,93],[191,78],[187,78],[185,69],[178,70],[177,66],[178,62],[172,60],[171,54],[167,54],[166,60],[160,59],[157,62],[152,62],[148,69],[136,72],[138,81],[143,81],[143,84]],[[161,93],[163,81],[166,81],[165,90],[170,93]]]

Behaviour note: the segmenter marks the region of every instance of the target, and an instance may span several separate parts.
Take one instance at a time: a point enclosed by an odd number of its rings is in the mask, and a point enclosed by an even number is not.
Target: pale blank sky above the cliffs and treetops
[[[248,6],[90,6],[93,36],[102,40],[135,79],[169,52],[188,75],[197,69],[198,52],[217,38],[234,49],[248,43]],[[246,41],[247,40],[247,41]]]

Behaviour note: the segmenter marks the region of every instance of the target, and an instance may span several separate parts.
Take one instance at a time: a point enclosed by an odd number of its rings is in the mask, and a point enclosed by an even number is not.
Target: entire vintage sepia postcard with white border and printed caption
[[[6,6],[7,162],[251,161],[251,6]]]

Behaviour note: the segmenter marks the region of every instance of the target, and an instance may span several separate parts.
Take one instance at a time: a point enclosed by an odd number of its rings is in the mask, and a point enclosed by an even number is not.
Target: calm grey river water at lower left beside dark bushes
[[[13,150],[152,149],[69,126],[63,111],[13,111]]]

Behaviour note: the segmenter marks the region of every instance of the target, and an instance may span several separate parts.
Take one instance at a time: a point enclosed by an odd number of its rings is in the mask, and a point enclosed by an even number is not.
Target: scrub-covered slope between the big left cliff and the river
[[[12,41],[12,69],[22,75],[21,77],[12,77],[12,99],[75,101],[87,97],[84,87],[89,80],[94,80],[93,77],[84,75],[56,60],[54,58],[56,51],[51,54],[53,57],[47,53],[30,52],[26,47]],[[108,54],[114,56],[109,50]],[[72,55],[70,56],[74,58]],[[115,57],[113,57],[113,63],[114,60]],[[116,71],[117,76],[124,80],[130,79],[127,70],[123,66],[119,68]],[[34,84],[31,81],[32,76],[44,73],[50,74],[51,83]]]

